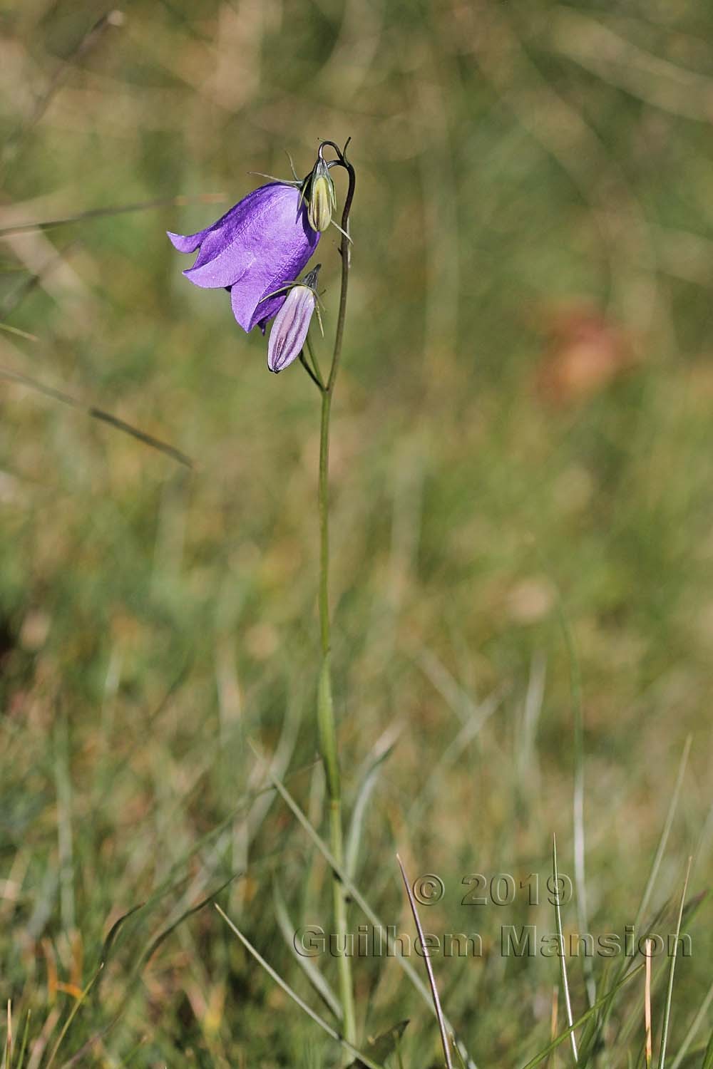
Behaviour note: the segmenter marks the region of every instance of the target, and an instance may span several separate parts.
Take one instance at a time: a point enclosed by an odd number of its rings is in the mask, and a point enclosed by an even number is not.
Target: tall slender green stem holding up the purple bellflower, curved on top
[[[340,246],[342,257],[342,282],[339,298],[339,313],[331,367],[326,386],[322,389],[322,420],[320,429],[320,645],[322,649],[322,667],[320,670],[320,686],[317,695],[317,725],[320,730],[320,750],[324,761],[329,796],[329,846],[339,867],[343,864],[344,842],[342,828],[342,795],[337,748],[337,729],[335,724],[335,708],[331,697],[331,633],[329,620],[329,417],[331,414],[331,397],[337,378],[337,369],[342,350],[344,322],[346,317],[346,294],[350,273],[350,241],[348,217],[354,197],[355,174],[352,165],[344,154],[332,142],[339,156],[339,165],[348,174],[348,190],[342,213],[342,230],[344,234]],[[346,146],[345,146],[346,148]],[[310,355],[312,355],[310,353]],[[312,359],[314,360],[313,356]],[[319,374],[319,365],[314,362]],[[320,374],[320,377],[321,374]],[[356,1042],[356,1013],[354,1007],[354,985],[352,982],[352,961],[345,954],[346,949],[346,912],[347,894],[337,873],[332,882],[335,934],[342,952],[338,957],[339,964],[339,996],[344,1014],[344,1038],[352,1045]]]

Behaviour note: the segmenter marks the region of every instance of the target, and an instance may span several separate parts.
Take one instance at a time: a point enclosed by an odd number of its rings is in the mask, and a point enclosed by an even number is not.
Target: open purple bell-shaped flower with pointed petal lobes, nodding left
[[[195,285],[229,290],[238,324],[246,331],[259,326],[263,334],[292,292],[285,286],[320,241],[299,185],[281,182],[253,189],[205,230],[168,236],[179,252],[199,250],[193,266],[183,273],[186,278]]]

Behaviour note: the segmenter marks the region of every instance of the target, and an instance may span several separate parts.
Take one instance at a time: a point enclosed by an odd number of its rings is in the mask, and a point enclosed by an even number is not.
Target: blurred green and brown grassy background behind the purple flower
[[[590,930],[634,920],[689,733],[652,907],[680,894],[691,853],[692,894],[711,877],[713,11],[137,0],[106,15],[0,4],[0,308],[33,336],[0,331],[14,1028],[31,1009],[31,1064],[47,1065],[111,924],[146,902],[53,1064],[92,1036],[75,1064],[337,1064],[213,909],[141,955],[241,870],[221,902],[313,997],[272,888],[293,924],[328,929],[328,872],[255,793],[248,740],[321,824],[319,399],[298,367],[267,374],[263,339],[182,278],[190,261],[165,231],[213,221],[259,183],[249,171],[288,176],[284,150],[301,174],[320,138],[352,137],[332,449],[347,808],[396,741],[357,882],[409,931],[396,849],[413,876],[441,874],[431,930],[480,931],[487,950],[437,963],[449,1014],[479,1065],[527,1060],[549,1034],[557,963],[502,959],[498,932],[551,931],[552,911],[467,911],[461,879],[546,879],[553,832],[573,872],[560,604],[584,688]],[[188,200],[13,229],[171,198]],[[328,335],[337,236],[319,250]],[[195,469],[7,372],[172,443]],[[678,967],[679,1041],[710,981],[710,925],[707,904]],[[410,1017],[404,1064],[439,1064],[393,961],[357,960],[355,976],[362,1034]],[[579,972],[573,983],[582,1011]],[[693,1048],[706,1038],[703,1021]]]

